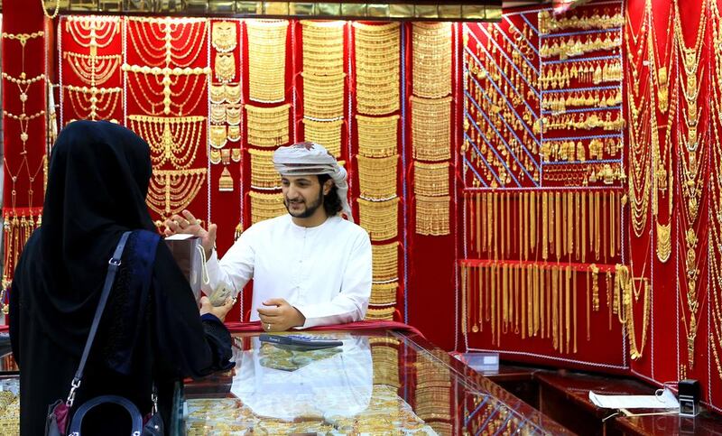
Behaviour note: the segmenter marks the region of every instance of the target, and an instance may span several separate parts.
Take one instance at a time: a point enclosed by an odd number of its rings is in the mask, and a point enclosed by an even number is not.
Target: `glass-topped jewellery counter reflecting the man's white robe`
[[[234,369],[176,389],[173,434],[569,433],[418,335],[304,334],[343,346],[290,350],[234,335]]]

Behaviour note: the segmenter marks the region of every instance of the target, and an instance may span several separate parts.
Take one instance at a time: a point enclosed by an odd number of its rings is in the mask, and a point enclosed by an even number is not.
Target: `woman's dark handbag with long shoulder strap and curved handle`
[[[100,294],[100,301],[97,303],[97,309],[95,317],[93,318],[93,324],[90,326],[90,332],[88,333],[88,340],[85,343],[83,349],[83,356],[80,358],[80,365],[78,371],[76,371],[72,382],[70,382],[70,393],[68,398],[63,400],[57,400],[55,403],[48,407],[48,416],[45,419],[45,435],[46,436],[65,436],[66,434],[72,436],[80,436],[80,428],[82,426],[83,418],[86,413],[91,409],[100,404],[117,404],[125,408],[127,413],[131,416],[132,436],[160,436],[163,434],[163,422],[161,413],[158,413],[158,397],[156,394],[155,386],[153,385],[153,413],[150,419],[143,425],[143,416],[141,415],[138,408],[129,401],[127,398],[118,395],[100,395],[88,402],[81,404],[75,414],[70,419],[70,409],[72,408],[73,402],[75,401],[75,393],[80,387],[80,382],[83,378],[83,370],[85,364],[88,361],[88,354],[90,348],[93,345],[93,339],[95,339],[97,333],[97,326],[100,323],[100,318],[103,315],[103,310],[106,308],[106,302],[110,289],[113,287],[113,282],[116,280],[116,273],[120,266],[120,258],[123,255],[125,249],[125,242],[131,232],[125,232],[118,245],[116,251],[113,253],[113,257],[108,261],[108,268],[106,274],[106,282],[103,283],[103,292]]]

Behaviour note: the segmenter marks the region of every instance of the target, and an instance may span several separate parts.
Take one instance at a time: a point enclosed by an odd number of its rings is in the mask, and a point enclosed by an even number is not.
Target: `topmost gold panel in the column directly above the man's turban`
[[[345,26],[342,21],[301,21],[303,72],[316,76],[344,72]]]

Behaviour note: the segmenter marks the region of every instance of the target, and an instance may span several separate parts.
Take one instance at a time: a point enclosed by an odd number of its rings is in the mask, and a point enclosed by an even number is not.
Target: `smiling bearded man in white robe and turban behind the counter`
[[[165,222],[166,236],[201,237],[207,294],[224,288],[236,294],[253,279],[251,320],[261,320],[266,331],[363,320],[371,295],[371,242],[353,223],[346,170],[313,143],[280,147],[273,166],[281,173],[288,214],[249,227],[222,259],[213,249],[216,225],[206,231],[188,210]]]

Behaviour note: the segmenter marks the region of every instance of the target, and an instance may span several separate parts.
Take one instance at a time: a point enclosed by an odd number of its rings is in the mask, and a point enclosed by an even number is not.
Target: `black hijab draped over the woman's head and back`
[[[76,121],[52,149],[42,227],[15,272],[42,329],[79,355],[110,259],[126,230],[155,231],[145,205],[148,144],[121,125]]]

